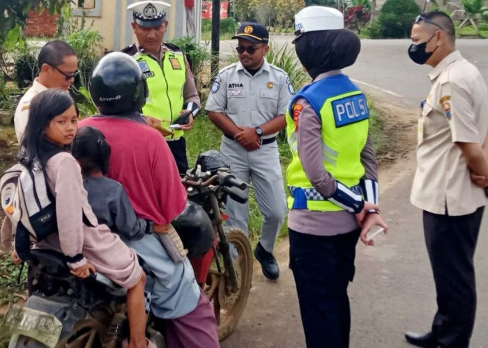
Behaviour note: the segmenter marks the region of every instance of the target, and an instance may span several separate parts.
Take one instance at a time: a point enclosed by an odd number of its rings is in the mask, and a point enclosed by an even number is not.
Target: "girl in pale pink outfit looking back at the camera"
[[[105,225],[98,225],[86,198],[82,174],[68,146],[77,134],[79,113],[66,92],[45,90],[33,97],[22,139],[21,163],[44,169],[56,200],[58,232],[36,244],[53,248],[68,258],[71,273],[80,278],[100,271],[128,289],[130,348],[146,348],[144,285],[146,276],[137,255]]]

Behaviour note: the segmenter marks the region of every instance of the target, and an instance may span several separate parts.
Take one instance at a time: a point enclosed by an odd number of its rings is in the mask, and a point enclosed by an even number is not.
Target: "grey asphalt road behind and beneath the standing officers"
[[[278,44],[289,37],[276,39]],[[222,47],[233,47],[224,42]],[[409,61],[409,40],[363,40],[358,62],[346,69],[367,93],[382,100],[418,108],[429,90],[429,67]],[[488,40],[458,40],[465,58],[488,81]],[[421,212],[409,203],[415,159],[383,171],[381,205],[390,225],[376,246],[358,244],[356,278],[349,287],[352,348],[406,348],[404,331],[428,331],[435,313],[435,291],[422,234]],[[384,189],[385,187],[388,187]],[[277,248],[282,276],[276,283],[262,276],[255,264],[250,299],[236,331],[223,348],[305,347],[295,285],[288,264],[288,241]],[[488,348],[488,223],[484,219],[475,256],[478,313],[472,348]]]

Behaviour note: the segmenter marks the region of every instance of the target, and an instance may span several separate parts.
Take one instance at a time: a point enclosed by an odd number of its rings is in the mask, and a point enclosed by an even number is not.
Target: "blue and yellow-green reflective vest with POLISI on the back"
[[[366,96],[349,77],[338,74],[302,88],[291,100],[287,111],[288,143],[293,155],[287,170],[288,185],[293,194],[288,198],[289,209],[344,210],[315,190],[303,169],[296,133],[299,108],[293,116],[293,106],[298,98],[305,98],[321,119],[323,166],[336,180],[351,188],[358,185],[365,174],[360,154],[366,144],[369,127]]]

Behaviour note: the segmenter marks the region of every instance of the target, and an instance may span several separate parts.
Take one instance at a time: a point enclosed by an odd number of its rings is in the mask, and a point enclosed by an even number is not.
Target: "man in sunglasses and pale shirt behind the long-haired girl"
[[[34,79],[31,88],[22,96],[15,109],[13,120],[19,143],[22,140],[27,120],[29,120],[29,105],[32,98],[47,88],[70,89],[78,72],[78,58],[75,50],[61,40],[47,42],[40,49],[38,65],[39,76]]]

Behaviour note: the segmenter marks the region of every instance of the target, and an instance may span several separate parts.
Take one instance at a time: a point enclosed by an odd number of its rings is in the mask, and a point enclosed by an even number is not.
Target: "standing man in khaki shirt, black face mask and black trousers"
[[[467,348],[476,312],[473,256],[487,203],[470,173],[480,181],[488,178],[482,150],[488,131],[487,87],[478,69],[457,52],[455,28],[445,13],[418,16],[411,40],[412,61],[434,68],[418,124],[411,203],[423,210],[438,309],[432,331],[405,337],[419,347]]]

